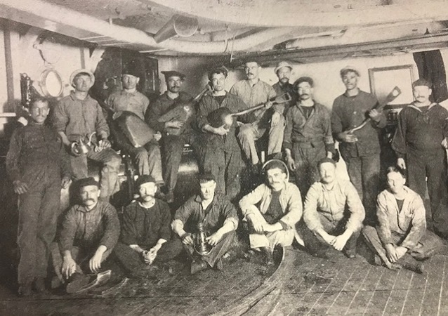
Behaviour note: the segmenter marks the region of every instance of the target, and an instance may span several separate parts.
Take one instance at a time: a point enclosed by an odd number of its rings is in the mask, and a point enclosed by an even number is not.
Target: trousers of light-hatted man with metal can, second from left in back
[[[103,163],[100,177],[100,197],[105,200],[109,199],[111,195],[120,190],[118,173],[121,157],[112,148],[106,148],[100,152],[89,150],[87,154],[81,154],[79,157],[70,156],[74,178],[87,178],[87,159]]]

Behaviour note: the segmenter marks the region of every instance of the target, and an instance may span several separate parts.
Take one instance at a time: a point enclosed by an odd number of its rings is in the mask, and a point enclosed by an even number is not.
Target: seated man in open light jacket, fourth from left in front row
[[[249,222],[251,249],[261,250],[266,265],[272,265],[272,251],[278,244],[291,246],[302,216],[301,192],[288,182],[288,169],[277,159],[263,168],[266,183],[256,187],[239,201],[244,220]],[[257,206],[258,205],[258,206]]]

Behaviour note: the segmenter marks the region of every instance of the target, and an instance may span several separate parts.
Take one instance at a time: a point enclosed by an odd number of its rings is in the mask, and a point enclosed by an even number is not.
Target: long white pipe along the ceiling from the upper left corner
[[[83,31],[86,32],[86,36],[81,39],[87,41],[95,36],[103,35],[125,43],[143,44],[151,49],[166,49],[180,53],[204,55],[225,53],[226,49],[225,41],[197,42],[169,39],[162,44],[157,44],[152,36],[139,29],[110,25],[110,23],[98,18],[40,0],[0,0],[0,16],[22,23],[31,22],[36,27],[51,28],[50,30],[53,32],[59,32],[71,37],[80,38],[79,31]],[[48,25],[51,25],[51,27],[48,27]],[[233,51],[248,51],[253,46],[272,41],[276,37],[279,38],[279,41],[284,41],[282,37],[293,30],[289,27],[265,29],[256,34],[235,39]],[[100,41],[100,39],[98,40]],[[93,40],[93,42],[95,41]]]

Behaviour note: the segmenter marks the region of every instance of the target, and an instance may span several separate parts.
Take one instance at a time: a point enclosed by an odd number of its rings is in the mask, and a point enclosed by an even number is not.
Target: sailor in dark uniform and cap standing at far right
[[[409,187],[425,198],[426,186],[437,234],[448,237],[447,157],[448,111],[430,101],[431,84],[419,79],[412,84],[414,103],[400,112],[392,147],[397,164],[407,169]],[[426,180],[428,179],[428,180]]]

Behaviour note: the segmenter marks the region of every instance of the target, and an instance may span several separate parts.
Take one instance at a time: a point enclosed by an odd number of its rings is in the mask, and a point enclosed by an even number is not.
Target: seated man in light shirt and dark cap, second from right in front
[[[355,258],[365,211],[349,180],[336,178],[336,162],[319,161],[320,181],[311,185],[305,197],[303,222],[299,232],[313,256],[327,257],[329,246]],[[306,225],[306,226],[305,226]]]

